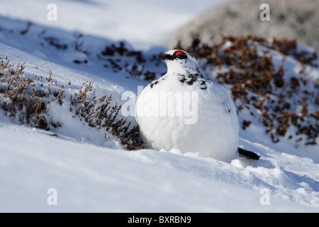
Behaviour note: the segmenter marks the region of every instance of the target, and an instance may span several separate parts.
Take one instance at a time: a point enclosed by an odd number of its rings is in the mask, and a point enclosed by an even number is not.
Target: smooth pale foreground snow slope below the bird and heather
[[[231,182],[236,177],[237,183],[241,177],[256,182],[257,177],[250,176],[249,169],[216,160],[154,150],[106,149],[52,138],[23,126],[6,124],[0,133],[1,147],[6,147],[1,149],[1,184],[6,185],[0,189],[6,195],[1,196],[1,211],[315,211],[273,195],[270,205],[262,206],[259,190]],[[266,180],[283,177],[278,167],[262,168],[254,172]],[[50,188],[57,189],[56,206],[47,205]],[[307,197],[305,190],[299,187],[296,196]]]

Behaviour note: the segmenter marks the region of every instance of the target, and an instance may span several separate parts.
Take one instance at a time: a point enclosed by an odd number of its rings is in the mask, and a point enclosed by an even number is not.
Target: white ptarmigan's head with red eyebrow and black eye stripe
[[[196,58],[184,50],[169,50],[158,55],[167,65],[167,73],[201,73]]]

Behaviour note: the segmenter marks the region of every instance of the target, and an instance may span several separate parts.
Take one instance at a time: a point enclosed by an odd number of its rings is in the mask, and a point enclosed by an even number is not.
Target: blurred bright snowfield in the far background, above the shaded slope
[[[47,13],[50,10],[47,10],[47,6],[52,1],[15,0],[1,6],[0,15],[111,40],[128,40],[135,48],[148,49],[164,44],[168,40],[167,36],[179,26],[208,6],[220,2],[223,0],[57,0],[54,1],[57,21],[49,21]]]

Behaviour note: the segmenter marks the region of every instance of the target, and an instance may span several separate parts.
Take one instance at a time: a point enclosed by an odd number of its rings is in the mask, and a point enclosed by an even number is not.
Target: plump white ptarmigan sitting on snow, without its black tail
[[[228,90],[206,79],[188,52],[169,50],[159,58],[167,74],[148,84],[135,106],[145,145],[230,162],[237,155],[239,126]]]

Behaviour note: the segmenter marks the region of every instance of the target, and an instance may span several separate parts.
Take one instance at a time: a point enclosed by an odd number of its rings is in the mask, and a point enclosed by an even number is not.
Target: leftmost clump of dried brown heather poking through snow
[[[28,123],[33,127],[49,130],[50,126],[57,127],[58,123],[45,117],[48,106],[58,100],[62,104],[63,87],[54,91],[54,98],[45,99],[48,93],[44,88],[35,87],[34,80],[38,77],[23,77],[24,64],[13,67],[7,58],[1,59],[0,97],[1,108],[5,115],[18,118],[20,123]],[[50,78],[50,77],[49,77]],[[50,84],[49,91],[50,91]]]

